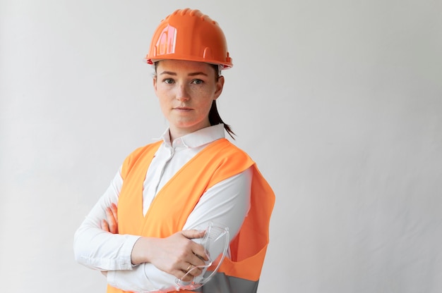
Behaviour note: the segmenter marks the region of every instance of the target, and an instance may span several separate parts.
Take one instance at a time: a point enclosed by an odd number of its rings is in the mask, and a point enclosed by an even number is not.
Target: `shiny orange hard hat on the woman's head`
[[[233,66],[221,27],[201,11],[179,9],[161,20],[145,60],[174,59]]]

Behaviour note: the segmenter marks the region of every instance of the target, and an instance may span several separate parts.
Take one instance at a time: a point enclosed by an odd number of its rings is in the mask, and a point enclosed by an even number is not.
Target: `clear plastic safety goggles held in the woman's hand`
[[[217,270],[220,268],[229,248],[229,228],[215,226],[210,222],[207,230],[205,230],[205,235],[201,240],[201,245],[203,245],[205,254],[209,259],[208,261],[205,261],[205,265],[195,266],[191,268],[191,270],[189,270],[181,279],[175,280],[181,289],[198,289],[207,283],[217,273]],[[210,256],[210,251],[221,251],[221,253],[213,258]],[[182,280],[188,275],[193,275],[193,273],[195,273],[198,269],[203,271],[201,275],[193,277],[193,279],[189,282]]]

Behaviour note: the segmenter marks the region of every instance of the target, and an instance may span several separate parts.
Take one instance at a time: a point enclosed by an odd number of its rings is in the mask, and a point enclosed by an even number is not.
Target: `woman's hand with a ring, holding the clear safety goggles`
[[[201,238],[204,234],[205,231],[185,230],[166,238],[141,237],[133,246],[132,263],[152,263],[181,279],[191,268],[203,266],[204,261],[208,261],[204,247],[191,240]],[[187,275],[183,280],[190,281],[201,273],[202,270],[194,269],[192,275]]]

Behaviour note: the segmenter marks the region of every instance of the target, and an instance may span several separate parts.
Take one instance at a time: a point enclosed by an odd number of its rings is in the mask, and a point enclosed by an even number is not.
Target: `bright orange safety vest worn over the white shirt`
[[[230,242],[230,257],[225,258],[218,273],[231,276],[235,282],[256,282],[257,287],[268,246],[269,222],[275,194],[256,164],[227,139],[218,139],[191,158],[162,187],[143,216],[143,182],[160,144],[162,142],[136,149],[123,163],[121,177],[124,183],[118,201],[119,233],[169,237],[183,229],[187,218],[207,189],[253,166],[251,208],[237,237]],[[107,292],[124,291],[108,286]]]

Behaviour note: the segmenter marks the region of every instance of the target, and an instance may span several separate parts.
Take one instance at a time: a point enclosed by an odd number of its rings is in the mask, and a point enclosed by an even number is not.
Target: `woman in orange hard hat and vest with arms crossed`
[[[174,292],[220,254],[199,244],[213,223],[229,230],[229,255],[199,292],[256,292],[275,196],[225,139],[233,132],[216,108],[220,72],[232,67],[225,36],[200,11],[177,10],[146,60],[169,127],[126,158],[76,232],[76,260],[107,275],[107,292]]]

